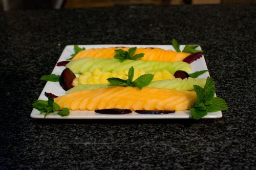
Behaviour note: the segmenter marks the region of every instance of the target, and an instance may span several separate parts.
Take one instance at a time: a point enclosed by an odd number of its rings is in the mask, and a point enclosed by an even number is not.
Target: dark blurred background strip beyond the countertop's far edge
[[[256,0],[0,0],[0,11],[184,4],[256,4]]]

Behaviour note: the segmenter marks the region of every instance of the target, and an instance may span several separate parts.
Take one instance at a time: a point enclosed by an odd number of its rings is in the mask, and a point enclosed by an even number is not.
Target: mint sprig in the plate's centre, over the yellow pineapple
[[[134,68],[131,67],[128,72],[128,79],[123,80],[119,78],[109,78],[108,81],[110,82],[109,86],[131,86],[131,87],[138,87],[140,90],[150,84],[154,78],[152,74],[145,74],[138,77],[135,81],[133,81],[134,77]]]

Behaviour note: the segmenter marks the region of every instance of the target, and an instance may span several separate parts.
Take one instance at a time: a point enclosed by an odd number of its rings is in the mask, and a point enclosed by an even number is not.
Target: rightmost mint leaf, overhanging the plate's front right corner
[[[216,112],[219,110],[227,110],[226,102],[221,98],[214,98],[211,100],[211,105],[206,106],[207,112]]]

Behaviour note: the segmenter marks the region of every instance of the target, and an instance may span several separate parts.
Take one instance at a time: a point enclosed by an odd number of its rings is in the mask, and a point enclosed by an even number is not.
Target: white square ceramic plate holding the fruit
[[[79,45],[79,47],[85,47],[86,49],[89,48],[101,48],[101,47],[112,47],[112,46],[127,46],[127,47],[158,47],[162,48],[164,50],[174,50],[172,45]],[[185,45],[180,45],[181,50],[183,50]],[[201,47],[199,46],[197,48],[198,50],[201,50]],[[58,62],[65,61],[68,58],[70,58],[70,55],[74,53],[74,45],[67,45],[62,52]],[[190,64],[193,68],[192,72],[205,70],[207,69],[204,56],[200,59],[194,61]],[[66,67],[63,66],[56,66],[54,67],[52,74],[60,75],[62,70]],[[207,78],[209,77],[209,73],[205,72],[203,75],[199,76],[199,78]],[[64,95],[65,90],[62,89],[62,87],[59,85],[59,82],[47,82],[44,89],[42,90],[38,100],[47,100],[45,96],[45,92],[53,93],[57,96]],[[33,109],[30,116],[32,118],[44,118],[44,114],[39,114],[40,112],[36,109]],[[212,112],[208,113],[203,118],[220,118],[222,117],[222,112]],[[69,116],[61,117],[57,115],[56,113],[49,114],[46,118],[58,118],[58,119],[152,119],[152,118],[191,118],[190,111],[177,111],[175,113],[169,113],[169,114],[139,114],[136,112],[130,113],[130,114],[100,114],[95,113],[94,111],[70,111]]]

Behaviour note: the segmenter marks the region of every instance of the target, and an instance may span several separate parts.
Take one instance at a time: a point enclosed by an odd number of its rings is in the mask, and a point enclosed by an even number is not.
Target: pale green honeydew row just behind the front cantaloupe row
[[[151,82],[147,87],[186,91],[186,90],[194,90],[194,85],[204,87],[205,82],[206,82],[206,79],[194,79],[194,78],[188,78],[183,80],[182,79],[161,80],[161,81]],[[90,90],[90,89],[97,89],[102,87],[106,88],[108,87],[108,84],[80,84],[68,90],[66,93],[69,94],[79,90]]]

